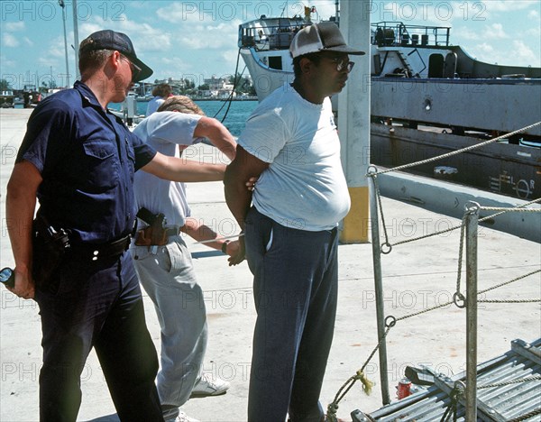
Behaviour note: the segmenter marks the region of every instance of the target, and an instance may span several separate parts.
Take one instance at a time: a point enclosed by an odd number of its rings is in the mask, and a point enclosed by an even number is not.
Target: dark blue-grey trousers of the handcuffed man
[[[252,207],[244,224],[257,321],[250,422],[319,422],[319,394],[333,341],[337,230],[280,225]]]

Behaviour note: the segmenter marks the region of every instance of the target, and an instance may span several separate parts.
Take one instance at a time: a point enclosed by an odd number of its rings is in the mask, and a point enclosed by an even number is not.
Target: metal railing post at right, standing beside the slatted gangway
[[[477,227],[479,204],[466,209],[466,420],[477,420]]]

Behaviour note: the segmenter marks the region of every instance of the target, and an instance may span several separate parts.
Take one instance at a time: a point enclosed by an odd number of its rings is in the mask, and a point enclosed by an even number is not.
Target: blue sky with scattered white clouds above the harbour
[[[41,86],[51,78],[59,87],[68,81],[73,84],[74,7],[70,0],[64,4],[69,78],[59,2],[0,2],[0,78],[12,87]],[[240,23],[261,14],[303,14],[304,5],[316,7],[313,20],[328,19],[335,12],[335,0],[78,0],[78,40],[101,29],[124,32],[132,39],[137,56],[154,70],[149,81],[190,78],[202,84],[204,78],[234,73]],[[401,21],[451,27],[451,42],[478,60],[541,67],[539,0],[373,0],[367,7],[371,23]]]

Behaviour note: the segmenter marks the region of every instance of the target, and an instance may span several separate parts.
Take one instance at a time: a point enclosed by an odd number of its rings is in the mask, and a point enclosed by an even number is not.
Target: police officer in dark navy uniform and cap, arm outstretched
[[[45,98],[32,113],[7,189],[16,265],[11,290],[40,306],[40,416],[76,420],[80,374],[95,347],[120,419],[160,421],[157,355],[126,252],[135,219],[133,172],[177,181],[218,180],[225,166],[163,156],[107,111],[109,102],[124,101],[134,82],[152,74],[124,33],[99,31],[82,41],[79,70],[81,81]],[[69,238],[48,277],[32,268],[36,197],[38,215],[54,233]],[[41,262],[51,260],[41,257]]]

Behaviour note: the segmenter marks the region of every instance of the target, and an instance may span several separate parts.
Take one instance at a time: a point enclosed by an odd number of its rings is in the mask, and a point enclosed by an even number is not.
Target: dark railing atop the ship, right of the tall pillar
[[[401,22],[372,23],[371,43],[379,47],[449,46],[451,28],[446,26],[407,25]]]

